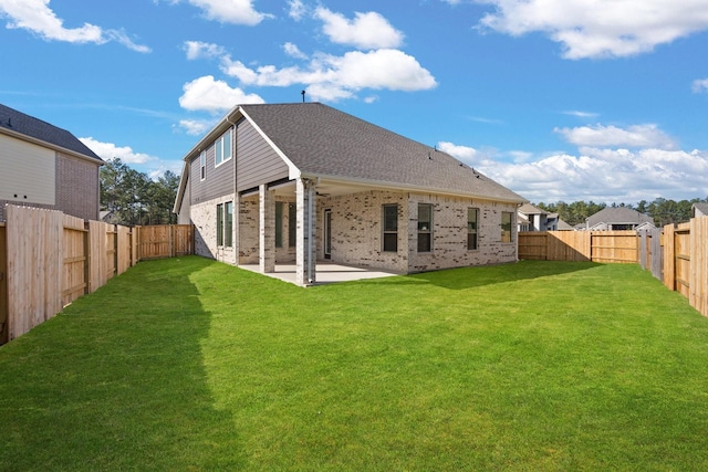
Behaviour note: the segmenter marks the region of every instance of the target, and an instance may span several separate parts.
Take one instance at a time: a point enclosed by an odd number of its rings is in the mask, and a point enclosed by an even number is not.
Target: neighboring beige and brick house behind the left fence
[[[7,203],[98,219],[102,164],[67,130],[0,105],[0,221]]]

